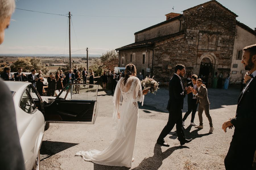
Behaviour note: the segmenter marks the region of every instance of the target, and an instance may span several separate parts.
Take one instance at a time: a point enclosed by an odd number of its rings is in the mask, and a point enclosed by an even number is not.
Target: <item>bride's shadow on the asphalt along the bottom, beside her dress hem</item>
[[[156,144],[154,147],[154,155],[152,157],[145,158],[137,167],[133,170],[157,170],[161,167],[163,160],[170,156],[175,150],[189,148],[187,146],[174,146],[162,152],[161,146]],[[136,160],[135,160],[136,161]],[[94,170],[128,170],[127,167],[113,167],[98,165],[94,163]]]

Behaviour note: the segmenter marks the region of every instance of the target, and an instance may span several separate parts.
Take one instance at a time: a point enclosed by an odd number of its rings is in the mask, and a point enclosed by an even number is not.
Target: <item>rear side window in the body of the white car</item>
[[[36,109],[36,106],[31,99],[28,90],[25,90],[22,94],[22,97],[20,99],[20,108],[29,114],[32,114],[32,112]]]

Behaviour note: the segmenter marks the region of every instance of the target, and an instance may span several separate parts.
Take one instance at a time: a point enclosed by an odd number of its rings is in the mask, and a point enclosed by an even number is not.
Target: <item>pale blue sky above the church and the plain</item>
[[[208,0],[209,1],[209,0]],[[68,14],[71,12],[71,51],[88,48],[102,54],[135,41],[134,33],[166,20],[170,12],[207,0],[16,0],[16,8]],[[255,0],[218,0],[254,29]],[[174,7],[174,10],[172,9]],[[16,9],[0,45],[0,54],[64,54],[69,52],[68,17]],[[86,54],[85,50],[72,54]]]

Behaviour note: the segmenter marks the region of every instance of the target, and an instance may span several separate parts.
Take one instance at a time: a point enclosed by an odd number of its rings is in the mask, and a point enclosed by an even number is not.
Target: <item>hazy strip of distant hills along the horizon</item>
[[[89,57],[100,57],[100,54],[88,54]],[[0,56],[5,56],[5,57],[56,57],[56,58],[60,58],[60,57],[69,57],[69,54],[0,54]],[[71,57],[86,57],[86,54],[71,54]]]

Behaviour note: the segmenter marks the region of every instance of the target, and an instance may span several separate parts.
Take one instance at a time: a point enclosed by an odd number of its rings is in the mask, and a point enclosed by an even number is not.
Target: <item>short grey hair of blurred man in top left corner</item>
[[[11,16],[15,9],[15,0],[0,0],[0,22]]]

